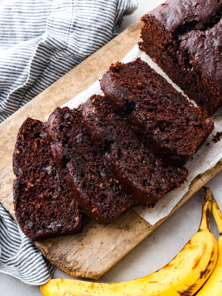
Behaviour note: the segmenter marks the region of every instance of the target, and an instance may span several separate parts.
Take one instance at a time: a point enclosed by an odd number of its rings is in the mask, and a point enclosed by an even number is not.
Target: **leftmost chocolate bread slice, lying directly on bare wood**
[[[75,234],[82,211],[55,163],[46,124],[27,118],[19,129],[13,154],[16,220],[32,240]]]

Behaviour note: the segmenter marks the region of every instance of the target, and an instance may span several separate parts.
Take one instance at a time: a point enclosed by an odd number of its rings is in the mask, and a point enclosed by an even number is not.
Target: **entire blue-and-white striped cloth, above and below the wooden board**
[[[0,122],[116,36],[136,7],[136,0],[0,0]],[[53,270],[0,204],[0,272],[39,285]]]

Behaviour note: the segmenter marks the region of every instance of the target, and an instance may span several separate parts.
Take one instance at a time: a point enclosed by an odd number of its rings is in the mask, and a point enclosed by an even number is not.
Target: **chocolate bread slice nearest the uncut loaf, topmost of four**
[[[156,155],[184,165],[214,128],[201,108],[194,107],[165,78],[141,59],[112,64],[100,85],[118,112],[131,113],[133,131]]]

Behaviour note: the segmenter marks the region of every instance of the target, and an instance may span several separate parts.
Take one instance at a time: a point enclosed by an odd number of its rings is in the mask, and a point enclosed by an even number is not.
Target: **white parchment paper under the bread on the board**
[[[161,70],[160,67],[158,67],[157,64],[155,64],[147,54],[139,50],[138,45],[134,46],[133,49],[128,52],[128,54],[122,59],[122,62],[131,62],[137,57],[140,57],[142,60],[147,62],[153,69],[157,71],[157,73],[161,74],[165,79],[167,79],[167,81],[171,83],[173,87],[175,87],[178,91],[181,91],[181,89],[170,80],[163,70]],[[183,93],[183,91],[181,92]],[[84,90],[75,96],[75,98],[63,104],[61,107],[78,107],[79,104],[86,102],[86,100],[93,94],[103,94],[99,86],[99,81],[96,81],[88,89]],[[194,105],[196,104],[194,103]],[[212,119],[215,124],[215,129],[210,134],[206,142],[202,145],[202,147],[200,147],[197,153],[194,154],[193,159],[190,159],[186,163],[185,167],[189,170],[189,175],[187,176],[184,184],[182,184],[180,188],[174,189],[166,194],[163,199],[160,200],[153,208],[134,208],[134,210],[151,225],[154,225],[171,212],[175,205],[181,200],[183,195],[188,191],[189,184],[197,175],[204,173],[206,170],[214,167],[216,163],[222,158],[222,140],[218,141],[217,143],[212,141],[213,135],[215,135],[217,131],[222,131],[222,108],[220,108],[213,115]]]

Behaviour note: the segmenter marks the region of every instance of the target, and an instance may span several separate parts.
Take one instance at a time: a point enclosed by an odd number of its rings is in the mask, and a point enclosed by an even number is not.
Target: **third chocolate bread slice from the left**
[[[166,163],[145,147],[105,97],[91,96],[82,118],[96,145],[107,150],[105,158],[115,178],[138,202],[154,206],[186,178],[185,168]]]

